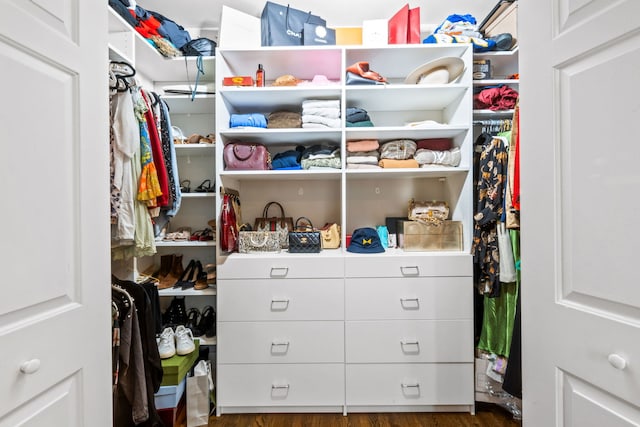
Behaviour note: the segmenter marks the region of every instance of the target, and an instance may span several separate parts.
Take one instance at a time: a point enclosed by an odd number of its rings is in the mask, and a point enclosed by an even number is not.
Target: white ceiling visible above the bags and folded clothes
[[[448,15],[471,14],[478,22],[489,13],[498,0],[427,0],[409,2],[410,7],[420,7],[423,27],[432,28]],[[288,0],[276,1],[297,9],[309,10],[320,15],[329,27],[360,26],[366,19],[390,18],[407,4],[406,0]],[[215,30],[220,27],[222,5],[227,5],[252,16],[260,16],[265,1],[258,0],[139,0],[147,10],[165,15],[189,31]],[[424,30],[424,28],[423,28]]]

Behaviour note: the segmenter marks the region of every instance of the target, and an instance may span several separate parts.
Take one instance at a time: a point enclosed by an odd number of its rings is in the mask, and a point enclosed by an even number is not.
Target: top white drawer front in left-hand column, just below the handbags
[[[320,254],[233,254],[217,267],[219,279],[344,277],[342,256]]]

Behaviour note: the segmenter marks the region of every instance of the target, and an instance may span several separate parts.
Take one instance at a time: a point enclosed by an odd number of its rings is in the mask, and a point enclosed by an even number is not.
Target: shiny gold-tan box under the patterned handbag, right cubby
[[[461,251],[462,222],[443,221],[439,226],[404,221],[405,251]]]

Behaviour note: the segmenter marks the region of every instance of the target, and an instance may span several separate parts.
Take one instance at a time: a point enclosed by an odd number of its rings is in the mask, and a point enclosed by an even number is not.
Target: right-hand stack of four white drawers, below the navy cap
[[[471,267],[467,255],[345,259],[348,412],[473,412]]]

